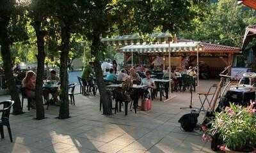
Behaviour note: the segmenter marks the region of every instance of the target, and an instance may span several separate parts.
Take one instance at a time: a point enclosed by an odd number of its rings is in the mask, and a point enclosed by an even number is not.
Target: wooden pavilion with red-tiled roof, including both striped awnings
[[[168,33],[150,34],[149,37],[154,38],[153,41],[143,41],[138,34],[132,34],[103,38],[102,42],[118,46],[117,50],[124,53],[125,62],[132,61],[132,57],[137,56],[138,62],[134,64],[140,64],[145,59],[152,63],[157,57],[161,57],[163,66],[180,66],[188,58],[189,64],[196,66],[199,58],[199,61],[210,66],[212,77],[232,64],[234,55],[241,53],[241,48],[237,47],[191,40],[178,41],[176,37],[172,39],[172,35]]]

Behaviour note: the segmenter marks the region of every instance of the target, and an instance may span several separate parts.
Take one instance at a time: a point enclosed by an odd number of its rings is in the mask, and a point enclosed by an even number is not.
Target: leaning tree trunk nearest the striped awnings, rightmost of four
[[[103,74],[98,57],[100,52],[100,34],[93,34],[91,52],[93,57],[95,57],[93,65],[97,78],[96,82],[100,92],[100,101],[102,102],[103,114],[112,115],[112,100],[111,96],[108,94],[108,91],[106,90],[105,85],[103,84]]]

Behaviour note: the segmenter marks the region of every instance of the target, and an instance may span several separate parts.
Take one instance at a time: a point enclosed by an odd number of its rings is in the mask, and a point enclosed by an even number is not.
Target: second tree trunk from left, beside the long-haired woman
[[[36,119],[44,119],[44,103],[43,103],[43,77],[44,77],[44,31],[41,30],[41,22],[35,21],[34,28],[36,32],[36,44],[37,44],[37,71],[36,71]]]

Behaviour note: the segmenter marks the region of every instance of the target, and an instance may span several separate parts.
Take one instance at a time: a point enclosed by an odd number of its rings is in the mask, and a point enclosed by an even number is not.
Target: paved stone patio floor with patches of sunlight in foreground
[[[201,81],[200,90],[216,81]],[[79,87],[76,87],[78,92]],[[35,110],[11,115],[13,143],[4,129],[0,153],[94,153],[94,152],[213,152],[210,143],[202,142],[200,131],[186,133],[178,120],[189,110],[189,92],[173,92],[177,96],[162,102],[159,98],[148,112],[124,112],[106,117],[99,111],[99,96],[75,96],[76,106],[70,106],[70,118],[56,119],[59,108],[49,106],[47,119],[35,120]],[[0,96],[0,101],[10,99]],[[193,105],[198,106],[198,96],[193,95]]]

